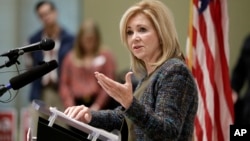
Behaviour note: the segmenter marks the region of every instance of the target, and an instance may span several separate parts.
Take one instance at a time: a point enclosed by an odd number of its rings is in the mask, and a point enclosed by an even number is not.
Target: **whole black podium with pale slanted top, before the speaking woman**
[[[32,134],[28,133],[27,136],[29,136],[30,141],[121,141],[119,131],[115,130],[110,133],[71,119],[55,107],[47,107],[42,101],[34,100],[32,107],[38,112],[49,116],[49,118],[44,119],[39,117],[37,137],[32,137]],[[69,130],[57,125],[55,123],[56,120],[64,122],[74,130]]]

